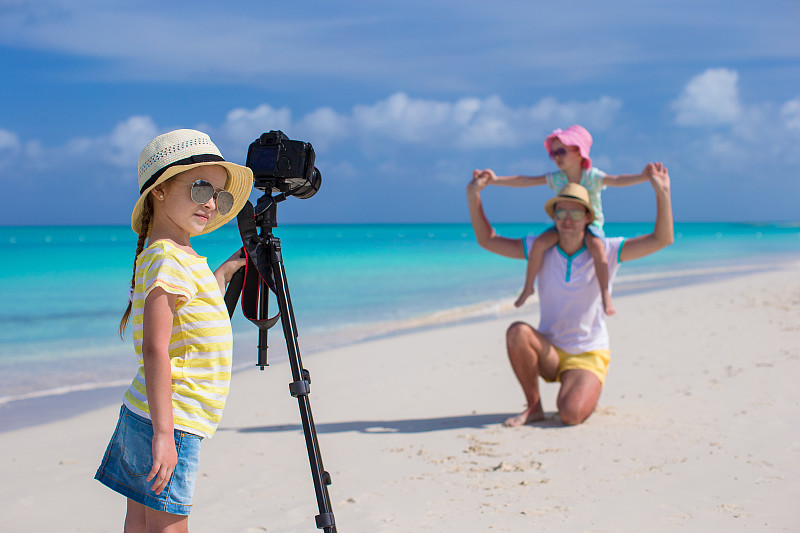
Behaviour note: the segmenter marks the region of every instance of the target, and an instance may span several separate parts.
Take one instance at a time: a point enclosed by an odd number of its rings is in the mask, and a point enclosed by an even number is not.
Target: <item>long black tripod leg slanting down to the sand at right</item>
[[[311,390],[311,378],[308,371],[303,368],[303,363],[300,359],[297,326],[294,320],[291,298],[289,297],[286,271],[283,267],[280,239],[272,235],[269,236],[269,254],[273,273],[275,274],[276,297],[281,312],[283,335],[286,338],[289,364],[292,369],[293,381],[289,384],[289,391],[292,396],[297,398],[297,404],[300,408],[300,418],[303,423],[303,434],[308,450],[311,477],[314,481],[314,490],[317,496],[317,506],[319,508],[319,515],[316,517],[317,528],[324,530],[326,533],[336,533],[336,521],[333,516],[330,495],[328,494],[328,485],[331,484],[331,478],[322,465],[317,430],[314,426],[314,417],[311,414],[311,403],[308,398]]]

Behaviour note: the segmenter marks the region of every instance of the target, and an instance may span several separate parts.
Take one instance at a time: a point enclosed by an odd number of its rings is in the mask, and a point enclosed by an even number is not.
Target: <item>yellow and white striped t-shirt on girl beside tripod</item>
[[[172,318],[172,416],[176,429],[211,437],[217,429],[231,379],[233,334],[228,311],[205,257],[170,241],[156,241],[136,260],[131,324],[139,372],[123,399],[150,418],[142,357],[144,301],[154,287],[178,296]]]

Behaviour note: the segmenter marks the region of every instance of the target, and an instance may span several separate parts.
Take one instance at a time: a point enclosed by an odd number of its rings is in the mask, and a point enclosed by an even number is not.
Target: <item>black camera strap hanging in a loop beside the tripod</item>
[[[281,314],[279,311],[272,318],[259,318],[261,299],[268,296],[268,293],[262,294],[260,287],[263,282],[269,290],[277,294],[275,274],[272,271],[267,246],[258,234],[253,204],[249,201],[245,203],[237,219],[247,263],[231,277],[228,290],[225,291],[225,305],[228,308],[228,315],[232,317],[241,295],[242,314],[259,329],[266,331],[278,322]]]

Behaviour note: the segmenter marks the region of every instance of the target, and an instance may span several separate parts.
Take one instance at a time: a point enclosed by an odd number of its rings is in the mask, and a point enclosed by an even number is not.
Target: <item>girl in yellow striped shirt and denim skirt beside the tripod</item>
[[[252,171],[199,131],[159,135],[139,156],[139,240],[119,331],[130,319],[140,367],[95,475],[128,498],[126,532],[188,531],[200,441],[214,434],[230,384],[222,293],[245,262],[237,252],[212,274],[189,239],[235,217],[252,186]]]

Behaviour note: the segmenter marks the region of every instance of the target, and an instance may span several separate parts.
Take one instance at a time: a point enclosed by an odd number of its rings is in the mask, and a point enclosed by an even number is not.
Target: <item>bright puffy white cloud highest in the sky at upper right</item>
[[[742,113],[739,73],[726,68],[708,69],[689,80],[672,103],[675,121],[682,126],[731,124]]]

